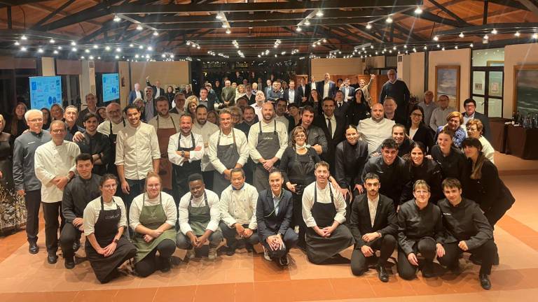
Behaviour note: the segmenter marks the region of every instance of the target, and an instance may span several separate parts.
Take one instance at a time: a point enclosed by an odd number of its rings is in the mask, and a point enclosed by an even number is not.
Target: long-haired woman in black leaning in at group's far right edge
[[[492,227],[504,216],[516,199],[499,178],[497,167],[482,152],[478,138],[466,138],[462,143],[465,156],[469,159],[468,188],[464,196],[476,201]]]

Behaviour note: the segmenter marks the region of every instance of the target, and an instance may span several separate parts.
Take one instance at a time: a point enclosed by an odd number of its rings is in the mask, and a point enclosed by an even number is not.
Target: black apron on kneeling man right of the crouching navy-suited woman
[[[327,185],[331,193],[331,203],[317,202],[317,185],[314,185],[312,217],[314,217],[319,229],[330,227],[336,215],[333,190],[331,189],[331,184]],[[319,264],[353,245],[353,241],[350,230],[343,224],[338,225],[329,238],[319,236],[310,227],[306,231],[306,255],[310,261]]]

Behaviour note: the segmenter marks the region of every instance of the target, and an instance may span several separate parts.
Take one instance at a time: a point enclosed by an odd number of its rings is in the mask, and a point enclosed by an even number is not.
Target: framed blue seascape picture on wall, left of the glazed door
[[[446,94],[448,106],[460,109],[460,66],[435,66],[435,99]]]

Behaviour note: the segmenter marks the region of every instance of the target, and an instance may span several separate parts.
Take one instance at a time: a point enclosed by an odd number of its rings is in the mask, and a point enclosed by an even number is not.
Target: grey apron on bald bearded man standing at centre
[[[256,145],[256,150],[260,152],[263,159],[272,159],[280,150],[280,141],[277,134],[277,120],[275,122],[275,129],[273,132],[262,132],[261,131],[261,122],[259,122],[260,133],[258,134],[258,144]],[[277,161],[273,166],[278,168],[280,161]],[[254,187],[258,192],[263,191],[264,189],[270,189],[269,187],[269,172],[263,168],[263,164],[256,164],[254,167]]]

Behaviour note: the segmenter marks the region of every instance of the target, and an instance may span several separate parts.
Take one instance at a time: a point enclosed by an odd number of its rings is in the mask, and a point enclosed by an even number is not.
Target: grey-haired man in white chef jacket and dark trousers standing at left
[[[36,149],[34,161],[36,178],[41,181],[47,261],[55,264],[58,259],[58,229],[64,227],[62,196],[67,182],[75,177],[75,158],[81,150],[76,143],[64,141],[67,127],[63,122],[52,122],[50,133],[52,140]],[[58,217],[62,220],[61,224],[58,223]]]

